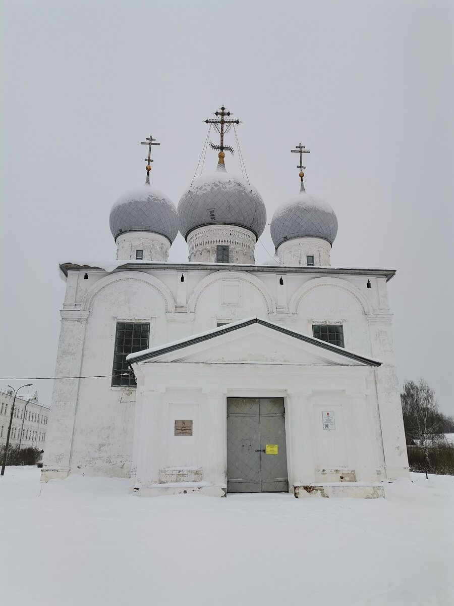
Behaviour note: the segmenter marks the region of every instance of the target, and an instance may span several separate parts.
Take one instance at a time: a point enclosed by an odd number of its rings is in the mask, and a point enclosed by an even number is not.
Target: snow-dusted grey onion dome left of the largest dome
[[[145,184],[127,191],[110,211],[110,231],[115,239],[126,231],[151,231],[174,241],[178,233],[178,215],[165,193]]]

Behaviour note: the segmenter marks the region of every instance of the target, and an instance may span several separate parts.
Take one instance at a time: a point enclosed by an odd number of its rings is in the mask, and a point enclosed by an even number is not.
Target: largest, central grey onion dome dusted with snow
[[[262,196],[253,185],[218,165],[212,175],[196,179],[178,204],[180,231],[188,233],[203,225],[239,225],[254,232],[257,239],[266,225]]]

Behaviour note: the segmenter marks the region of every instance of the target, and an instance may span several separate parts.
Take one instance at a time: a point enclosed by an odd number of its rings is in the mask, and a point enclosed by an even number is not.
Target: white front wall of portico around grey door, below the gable
[[[360,482],[382,477],[383,447],[375,431],[380,419],[375,390],[369,389],[375,381],[370,367],[138,366],[136,488],[159,488],[165,467],[201,468],[204,482],[225,486],[226,399],[240,396],[284,398],[289,490],[294,484],[323,481],[320,470],[326,468],[354,470]],[[335,411],[335,431],[323,430],[324,410]],[[193,421],[194,435],[174,436],[179,419]]]

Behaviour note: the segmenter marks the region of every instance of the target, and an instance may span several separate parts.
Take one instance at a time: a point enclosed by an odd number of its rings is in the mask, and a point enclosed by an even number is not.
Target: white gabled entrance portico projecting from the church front
[[[136,493],[269,491],[272,476],[258,488],[247,483],[248,473],[258,459],[269,467],[279,453],[286,461],[274,478],[278,490],[317,482],[373,484],[384,476],[383,442],[372,430],[378,422],[376,360],[253,318],[138,352],[128,361],[137,378]],[[251,411],[258,399],[268,403],[267,422],[270,414],[280,415],[269,408],[272,402],[282,402],[285,414],[285,431],[271,428],[270,443],[260,448],[252,443],[257,436]],[[238,401],[248,404],[251,414],[246,411],[243,421],[251,421],[252,429],[235,441],[228,406]],[[327,413],[333,421],[324,427]],[[182,421],[190,430],[178,429]],[[268,446],[277,450],[276,459]],[[240,477],[230,478],[232,470]]]

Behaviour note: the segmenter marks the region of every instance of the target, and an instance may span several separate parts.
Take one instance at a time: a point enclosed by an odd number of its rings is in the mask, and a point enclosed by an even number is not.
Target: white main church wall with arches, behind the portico
[[[312,323],[341,322],[347,348],[384,361],[370,387],[378,394],[381,425],[370,423],[377,440],[383,433],[387,476],[406,475],[386,279],[372,276],[372,288],[367,288],[367,276],[280,271],[219,266],[69,271],[56,376],[110,375],[117,320],[150,321],[153,346],[251,316],[309,336]],[[130,474],[135,399],[135,389],[111,388],[109,378],[56,381],[44,477],[63,477],[70,468]]]

